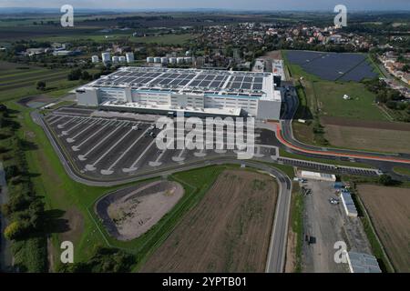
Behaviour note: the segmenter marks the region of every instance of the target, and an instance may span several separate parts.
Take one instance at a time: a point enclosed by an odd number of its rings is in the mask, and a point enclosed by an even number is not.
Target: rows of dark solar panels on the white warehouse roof
[[[186,90],[202,90],[217,93],[222,89],[229,92],[260,93],[264,73],[197,71],[160,68],[127,68],[98,79],[95,85],[129,85],[145,89],[159,87],[171,90],[184,87]]]

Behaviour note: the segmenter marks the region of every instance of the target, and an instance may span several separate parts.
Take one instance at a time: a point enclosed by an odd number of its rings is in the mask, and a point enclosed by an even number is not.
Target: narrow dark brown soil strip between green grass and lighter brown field
[[[350,119],[350,118],[344,118],[344,117],[323,116],[321,117],[321,123],[322,125],[342,125],[342,126],[349,126],[349,127],[364,127],[364,128],[375,128],[375,129],[410,131],[410,123],[403,123],[403,122],[365,121],[365,120]]]

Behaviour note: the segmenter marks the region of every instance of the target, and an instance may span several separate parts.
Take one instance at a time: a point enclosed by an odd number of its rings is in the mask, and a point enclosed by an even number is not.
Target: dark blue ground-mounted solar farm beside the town
[[[360,82],[377,76],[363,54],[287,51],[286,55],[291,64],[300,65],[307,73],[323,80]]]

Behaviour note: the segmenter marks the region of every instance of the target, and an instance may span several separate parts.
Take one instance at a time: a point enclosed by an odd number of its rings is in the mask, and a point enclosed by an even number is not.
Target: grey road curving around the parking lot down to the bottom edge
[[[287,236],[288,236],[288,222],[289,222],[289,213],[291,208],[291,198],[292,198],[292,181],[289,176],[286,176],[282,171],[268,166],[266,164],[261,164],[251,160],[238,160],[231,157],[220,157],[218,159],[213,159],[200,162],[193,162],[186,164],[184,166],[175,166],[169,169],[163,169],[156,171],[155,173],[141,174],[127,179],[119,179],[116,181],[98,181],[91,180],[85,177],[77,175],[77,172],[73,169],[71,163],[67,162],[67,159],[60,150],[60,147],[56,144],[55,139],[52,134],[49,132],[48,127],[43,121],[42,116],[37,112],[31,112],[31,117],[37,125],[40,125],[44,132],[46,133],[48,140],[51,145],[54,147],[57,156],[59,157],[62,165],[64,166],[67,175],[71,179],[77,181],[78,183],[87,185],[87,186],[120,186],[127,184],[129,182],[137,182],[138,180],[144,180],[156,176],[169,176],[176,172],[187,171],[194,168],[199,168],[203,166],[211,165],[222,165],[222,164],[236,164],[236,165],[245,165],[259,169],[271,176],[274,176],[278,181],[279,193],[278,200],[276,203],[276,209],[273,219],[272,226],[272,236],[269,246],[269,253],[266,261],[266,272],[269,273],[282,273],[285,264],[285,254],[287,246]]]

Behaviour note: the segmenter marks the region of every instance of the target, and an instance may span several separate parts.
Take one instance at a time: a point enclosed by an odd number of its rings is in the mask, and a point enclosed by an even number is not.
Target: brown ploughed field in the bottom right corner
[[[410,189],[359,185],[357,190],[393,265],[410,272]]]

